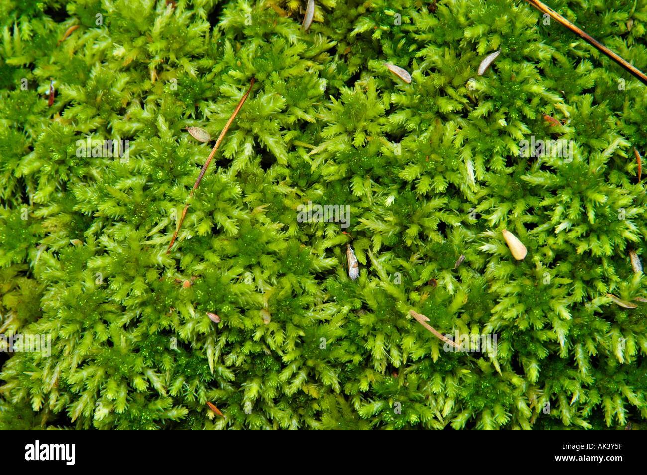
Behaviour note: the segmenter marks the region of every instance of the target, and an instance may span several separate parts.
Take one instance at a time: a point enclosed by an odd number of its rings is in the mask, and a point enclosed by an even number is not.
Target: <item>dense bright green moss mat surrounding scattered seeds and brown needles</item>
[[[547,3],[647,70],[647,0]],[[2,2],[1,428],[644,426],[646,86],[523,1],[305,5]]]

